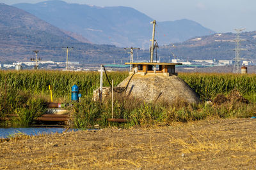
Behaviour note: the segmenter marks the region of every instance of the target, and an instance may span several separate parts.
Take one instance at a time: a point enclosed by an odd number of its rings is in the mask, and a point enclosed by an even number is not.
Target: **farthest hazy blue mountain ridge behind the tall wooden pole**
[[[68,4],[63,1],[21,3],[14,5],[65,31],[76,32],[93,43],[116,46],[150,46],[153,19],[140,11],[124,6],[98,7]],[[159,45],[185,41],[214,31],[191,20],[157,22]]]

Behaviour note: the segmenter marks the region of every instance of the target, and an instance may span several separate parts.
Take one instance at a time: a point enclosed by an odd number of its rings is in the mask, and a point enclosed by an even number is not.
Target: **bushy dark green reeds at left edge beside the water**
[[[44,113],[47,102],[44,99],[11,88],[0,89],[0,118],[15,125],[30,125]],[[17,117],[15,116],[17,115]]]

